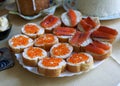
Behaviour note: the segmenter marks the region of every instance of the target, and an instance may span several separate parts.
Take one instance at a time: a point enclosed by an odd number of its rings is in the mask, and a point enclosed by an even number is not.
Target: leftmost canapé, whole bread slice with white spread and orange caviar
[[[34,41],[26,35],[17,34],[9,39],[8,44],[14,53],[21,53],[27,47],[33,46]]]

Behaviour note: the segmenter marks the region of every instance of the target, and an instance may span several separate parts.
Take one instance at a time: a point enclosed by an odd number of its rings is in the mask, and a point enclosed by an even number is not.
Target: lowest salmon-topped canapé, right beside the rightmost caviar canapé
[[[112,45],[107,42],[93,41],[85,47],[85,50],[93,55],[95,60],[102,60],[109,57]]]

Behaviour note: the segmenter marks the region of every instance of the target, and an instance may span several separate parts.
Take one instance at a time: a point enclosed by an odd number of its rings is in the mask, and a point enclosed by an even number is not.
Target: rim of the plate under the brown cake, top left
[[[49,8],[40,11],[39,14],[34,15],[34,16],[24,16],[21,13],[19,13],[16,9],[15,3],[11,3],[11,4],[7,5],[6,9],[9,10],[10,14],[18,15],[25,20],[33,20],[33,19],[36,19],[36,18],[38,18],[38,17],[40,17],[41,15],[44,15],[44,14],[54,14],[54,12],[55,12],[55,10],[58,6],[60,6],[60,4],[58,4],[57,2],[51,2]]]

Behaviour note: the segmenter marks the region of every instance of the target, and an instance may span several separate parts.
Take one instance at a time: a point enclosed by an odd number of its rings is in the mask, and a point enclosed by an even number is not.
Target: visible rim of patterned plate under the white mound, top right
[[[77,4],[75,4],[76,0],[63,0],[63,7],[65,10],[68,9],[74,9],[77,10]],[[83,18],[86,18],[87,16],[83,15]],[[92,16],[93,17],[93,16]],[[110,15],[110,16],[105,16],[105,17],[99,17],[100,20],[111,20],[111,19],[117,19],[120,18],[120,13],[115,14],[115,15]]]

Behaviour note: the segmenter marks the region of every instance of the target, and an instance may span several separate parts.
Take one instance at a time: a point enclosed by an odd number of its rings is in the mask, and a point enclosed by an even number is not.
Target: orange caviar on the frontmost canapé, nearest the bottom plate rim
[[[55,67],[58,66],[59,63],[62,61],[61,58],[44,58],[42,64],[47,67]]]

